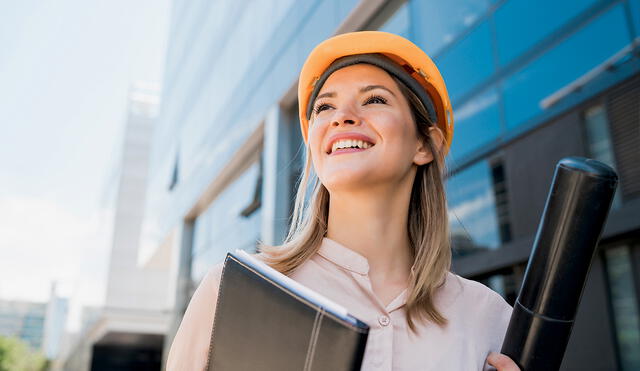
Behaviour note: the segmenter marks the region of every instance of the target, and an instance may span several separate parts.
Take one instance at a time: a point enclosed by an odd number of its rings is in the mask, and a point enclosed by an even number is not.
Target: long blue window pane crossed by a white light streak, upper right
[[[607,60],[629,43],[621,5],[509,77],[504,84],[507,127],[541,112],[543,99]]]

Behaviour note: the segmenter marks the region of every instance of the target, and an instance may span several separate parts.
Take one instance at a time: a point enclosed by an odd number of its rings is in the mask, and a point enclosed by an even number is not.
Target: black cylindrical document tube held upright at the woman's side
[[[560,368],[591,260],[618,184],[582,157],[556,165],[502,353],[523,371]]]

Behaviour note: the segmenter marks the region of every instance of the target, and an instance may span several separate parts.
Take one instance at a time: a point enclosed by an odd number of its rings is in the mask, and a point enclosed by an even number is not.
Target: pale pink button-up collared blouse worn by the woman
[[[414,321],[411,332],[404,309],[406,291],[386,307],[373,292],[367,259],[324,238],[318,253],[291,278],[347,308],[370,326],[362,370],[483,370],[489,352],[499,352],[511,307],[482,285],[448,273],[434,304],[448,320],[441,328]],[[211,324],[222,265],[211,269],[189,303],[173,341],[167,370],[202,370],[211,337]]]

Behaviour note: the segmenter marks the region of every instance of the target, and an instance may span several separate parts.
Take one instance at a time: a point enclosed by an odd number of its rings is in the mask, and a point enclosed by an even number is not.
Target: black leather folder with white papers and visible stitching
[[[208,370],[360,370],[369,327],[334,302],[238,251],[218,292]]]

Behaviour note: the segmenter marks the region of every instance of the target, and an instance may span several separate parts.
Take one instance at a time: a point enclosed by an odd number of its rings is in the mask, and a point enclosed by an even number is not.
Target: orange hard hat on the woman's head
[[[383,68],[416,93],[427,108],[431,121],[442,130],[447,144],[445,152],[448,151],[453,138],[453,111],[440,71],[414,43],[382,31],[337,35],[311,51],[298,81],[300,129],[305,142],[313,101],[322,84],[333,71],[356,63]]]

